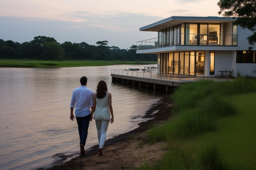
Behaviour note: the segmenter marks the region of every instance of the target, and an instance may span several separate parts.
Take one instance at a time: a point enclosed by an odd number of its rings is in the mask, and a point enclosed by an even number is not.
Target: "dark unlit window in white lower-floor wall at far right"
[[[237,51],[236,63],[256,63],[256,51]]]

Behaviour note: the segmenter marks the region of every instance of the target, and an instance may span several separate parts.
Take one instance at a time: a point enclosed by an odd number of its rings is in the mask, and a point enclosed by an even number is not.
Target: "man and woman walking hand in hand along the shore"
[[[74,121],[76,116],[80,137],[81,155],[85,154],[84,146],[88,135],[89,123],[92,119],[95,119],[99,140],[99,155],[101,156],[106,140],[109,121],[110,123],[113,123],[114,121],[111,93],[108,93],[107,84],[103,80],[99,81],[97,91],[95,93],[86,87],[87,78],[85,76],[81,77],[80,83],[81,86],[74,89],[72,93],[70,119]],[[76,107],[75,116],[73,114],[74,107]]]

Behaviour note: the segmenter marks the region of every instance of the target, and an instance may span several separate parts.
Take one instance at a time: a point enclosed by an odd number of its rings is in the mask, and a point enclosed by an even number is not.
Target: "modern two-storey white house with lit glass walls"
[[[181,16],[160,20],[139,29],[158,36],[137,42],[137,53],[157,54],[161,74],[215,77],[231,71],[233,77],[256,77],[256,47],[248,51],[247,40],[253,32],[234,25],[234,20]]]

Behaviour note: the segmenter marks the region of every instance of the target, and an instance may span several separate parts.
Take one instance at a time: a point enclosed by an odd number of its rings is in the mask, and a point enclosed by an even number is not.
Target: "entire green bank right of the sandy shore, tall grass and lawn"
[[[140,170],[256,170],[256,79],[200,81],[173,94],[175,118],[148,131],[165,156]]]

